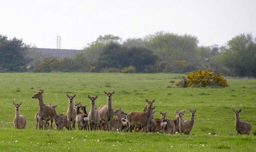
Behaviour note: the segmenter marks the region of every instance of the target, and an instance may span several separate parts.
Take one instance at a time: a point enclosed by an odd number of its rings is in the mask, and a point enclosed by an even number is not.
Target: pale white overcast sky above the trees
[[[38,48],[82,49],[99,35],[122,40],[158,31],[224,45],[241,33],[256,37],[255,0],[0,0],[0,34]]]

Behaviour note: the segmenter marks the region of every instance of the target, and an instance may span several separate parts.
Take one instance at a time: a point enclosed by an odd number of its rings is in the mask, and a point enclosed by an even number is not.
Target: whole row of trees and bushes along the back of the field
[[[175,72],[207,69],[238,77],[256,77],[256,38],[250,33],[224,46],[199,46],[198,38],[157,32],[122,42],[112,34],[99,36],[74,58],[44,58],[22,39],[0,35],[0,71]]]

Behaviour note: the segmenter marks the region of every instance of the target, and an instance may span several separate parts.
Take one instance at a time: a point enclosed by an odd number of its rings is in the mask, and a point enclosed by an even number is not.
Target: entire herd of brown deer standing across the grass
[[[63,127],[68,130],[75,129],[75,122],[77,122],[79,130],[108,130],[108,131],[123,131],[123,132],[132,132],[141,131],[141,132],[161,132],[166,134],[174,134],[179,132],[180,134],[189,134],[194,124],[194,117],[197,110],[190,110],[191,113],[190,120],[183,120],[183,115],[185,110],[176,112],[175,119],[167,119],[166,112],[160,112],[161,119],[153,118],[153,113],[155,107],[153,103],[155,99],[148,100],[145,99],[147,105],[144,107],[143,112],[130,112],[129,114],[123,112],[122,108],[119,107],[114,111],[112,107],[112,92],[104,91],[104,94],[108,98],[108,105],[102,105],[99,108],[95,107],[95,101],[98,98],[98,95],[92,97],[88,95],[88,98],[91,102],[90,112],[87,113],[86,105],[82,106],[80,103],[75,102],[73,106],[73,99],[76,96],[76,93],[73,95],[66,94],[69,98],[69,106],[67,110],[67,115],[57,114],[55,109],[57,106],[45,105],[42,99],[42,93],[44,90],[37,91],[32,98],[38,99],[39,109],[35,114],[36,129],[39,124],[39,129],[48,129],[49,125],[52,129],[52,122],[55,121],[57,130],[62,130]],[[25,129],[26,127],[26,117],[24,115],[19,115],[19,106],[22,103],[15,104],[15,117],[13,120],[14,127],[16,129]],[[80,111],[82,109],[82,112]],[[241,121],[239,118],[240,110],[234,110],[233,112],[236,116],[236,130],[238,134],[249,135],[251,130],[251,124],[245,121]],[[116,117],[114,117],[116,115]],[[49,123],[50,121],[50,123]]]

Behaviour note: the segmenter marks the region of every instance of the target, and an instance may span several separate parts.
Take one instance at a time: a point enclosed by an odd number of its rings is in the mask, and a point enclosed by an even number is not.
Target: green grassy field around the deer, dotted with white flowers
[[[179,88],[173,79],[182,74],[124,73],[0,73],[0,151],[256,151],[256,80],[228,78],[226,88]],[[175,80],[175,84],[170,84]],[[57,113],[66,113],[68,98],[87,105],[87,98],[99,95],[96,107],[106,105],[103,91],[115,90],[113,107],[127,113],[142,111],[145,99],[156,99],[154,118],[167,111],[175,118],[176,109],[197,109],[190,135],[159,133],[122,133],[104,131],[36,130],[34,115],[37,99],[31,98],[44,89],[44,103],[57,105]],[[12,102],[22,102],[20,114],[27,117],[25,130],[14,129],[15,109]],[[242,109],[241,120],[252,124],[249,136],[237,135],[234,109]]]

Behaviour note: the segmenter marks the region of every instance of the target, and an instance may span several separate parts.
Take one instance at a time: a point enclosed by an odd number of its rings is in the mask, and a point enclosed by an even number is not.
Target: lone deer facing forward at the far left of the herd
[[[26,128],[26,124],[27,124],[27,119],[24,115],[19,115],[19,106],[22,105],[22,102],[20,102],[19,104],[15,104],[13,102],[13,105],[15,107],[15,116],[13,119],[13,125],[16,129],[25,129]]]

